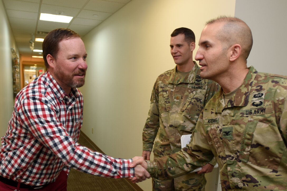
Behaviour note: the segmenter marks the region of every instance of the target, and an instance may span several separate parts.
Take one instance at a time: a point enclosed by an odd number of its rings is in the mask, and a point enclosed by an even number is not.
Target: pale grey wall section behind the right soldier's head
[[[249,25],[253,47],[247,66],[259,72],[287,75],[287,1],[236,1],[235,16]]]

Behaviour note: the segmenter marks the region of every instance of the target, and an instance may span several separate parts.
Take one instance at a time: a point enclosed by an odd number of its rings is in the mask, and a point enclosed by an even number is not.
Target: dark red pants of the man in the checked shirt
[[[67,191],[67,178],[68,178],[67,174],[64,171],[62,171],[59,174],[55,182],[51,182],[44,188],[32,189],[32,190],[35,190],[35,191],[36,190],[37,191]],[[0,190],[1,191],[14,191],[14,190],[28,191],[29,189],[20,188],[17,190],[17,187],[9,186],[7,184],[4,184],[3,182],[0,182]]]

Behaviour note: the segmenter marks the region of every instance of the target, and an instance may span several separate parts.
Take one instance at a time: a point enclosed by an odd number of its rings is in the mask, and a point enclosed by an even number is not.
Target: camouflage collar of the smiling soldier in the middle
[[[194,63],[194,66],[193,66],[192,70],[189,72],[189,75],[187,75],[182,80],[179,78],[179,75],[176,72],[177,66],[175,66],[174,69],[172,70],[172,74],[170,75],[168,82],[171,84],[194,83],[196,76],[199,76],[199,74],[200,74],[200,70],[199,70],[199,66],[196,64],[196,62],[193,61],[193,63]]]

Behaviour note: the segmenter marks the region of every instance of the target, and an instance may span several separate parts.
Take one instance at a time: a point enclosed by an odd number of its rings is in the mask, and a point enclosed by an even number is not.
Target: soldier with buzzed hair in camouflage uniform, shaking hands
[[[287,190],[287,76],[247,68],[252,42],[240,19],[207,23],[195,59],[201,76],[214,79],[221,90],[205,106],[186,148],[134,165],[148,166],[152,177],[165,180],[215,156],[222,190]]]

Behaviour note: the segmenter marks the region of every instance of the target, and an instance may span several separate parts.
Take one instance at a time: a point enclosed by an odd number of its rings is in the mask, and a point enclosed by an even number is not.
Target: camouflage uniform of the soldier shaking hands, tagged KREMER
[[[287,190],[286,97],[287,76],[251,66],[227,105],[222,90],[208,102],[187,148],[147,161],[148,171],[174,178],[215,156],[222,190]]]

